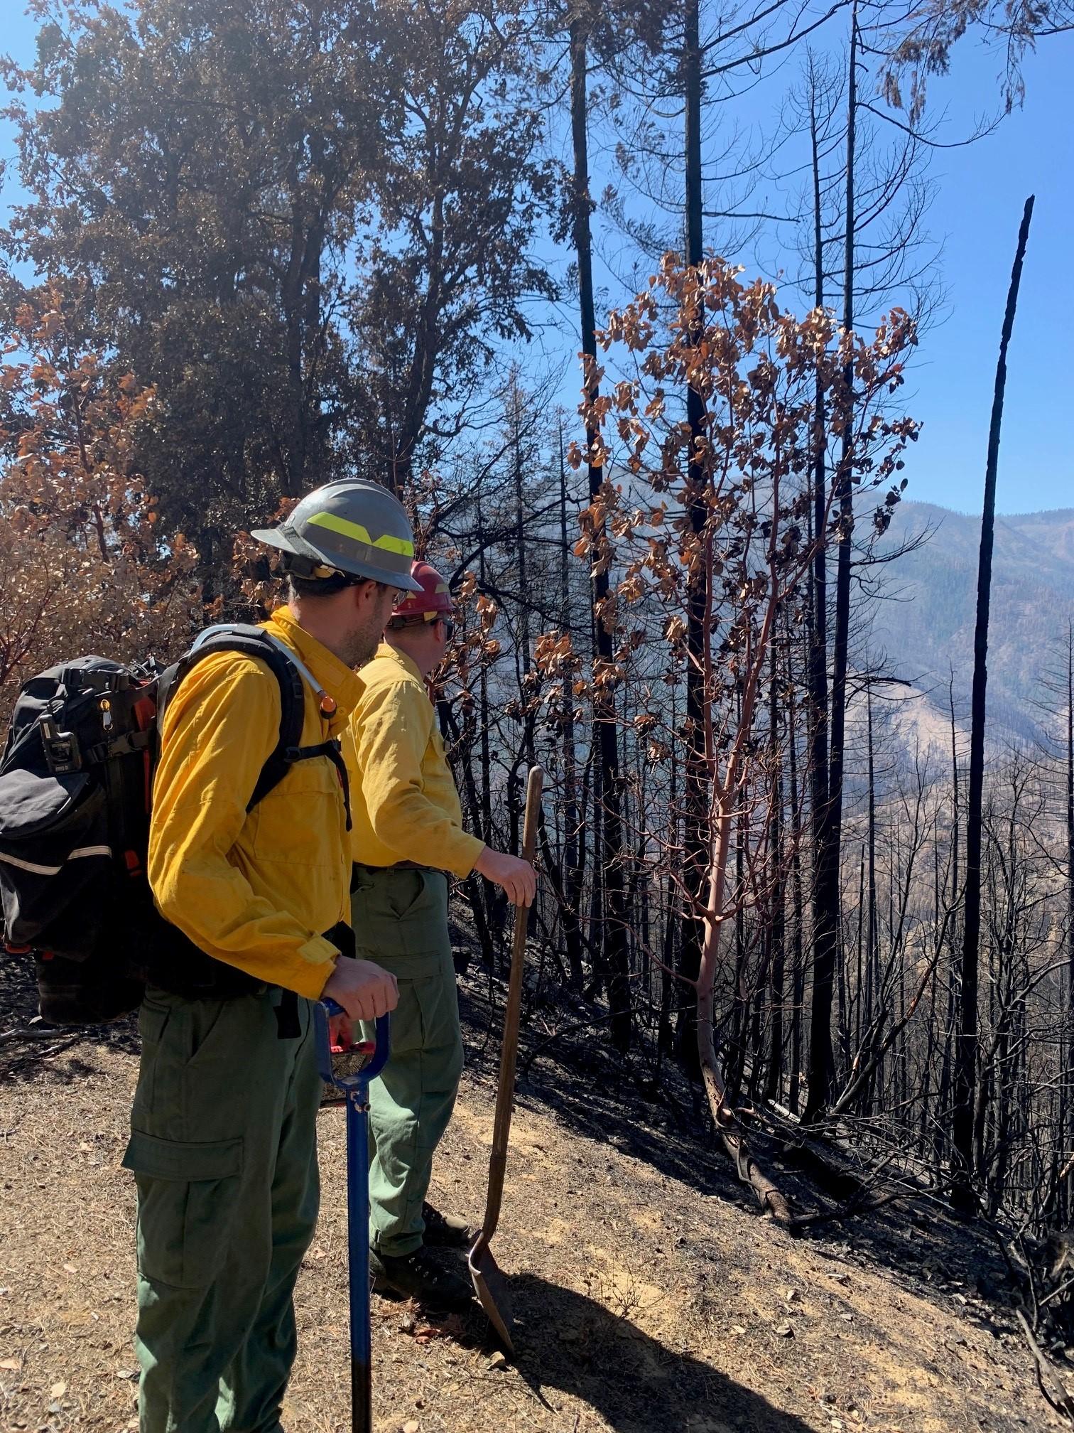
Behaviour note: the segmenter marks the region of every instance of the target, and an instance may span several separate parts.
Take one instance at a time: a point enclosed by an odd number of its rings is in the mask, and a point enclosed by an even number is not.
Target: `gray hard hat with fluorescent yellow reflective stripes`
[[[279,527],[251,533],[286,555],[298,577],[345,572],[400,592],[418,592],[411,576],[414,532],[402,503],[379,483],[347,477],[314,489]]]

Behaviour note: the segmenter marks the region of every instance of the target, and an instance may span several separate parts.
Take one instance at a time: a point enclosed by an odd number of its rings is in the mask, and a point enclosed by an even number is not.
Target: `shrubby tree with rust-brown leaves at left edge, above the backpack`
[[[159,532],[132,461],[156,396],[72,342],[56,285],[16,315],[0,367],[0,706],[60,658],[170,659],[200,618],[195,553]]]

